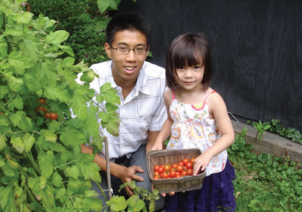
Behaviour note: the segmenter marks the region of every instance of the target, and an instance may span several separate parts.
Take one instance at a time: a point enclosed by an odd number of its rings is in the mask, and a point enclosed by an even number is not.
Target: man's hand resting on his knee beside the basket
[[[142,172],[144,172],[144,170],[140,166],[123,167],[123,169],[121,169],[121,172],[120,172],[120,175],[118,176],[118,178],[120,178],[120,180],[123,182],[123,184],[125,182],[131,182],[132,180],[144,181],[144,179],[142,177],[135,174],[136,172],[142,173]],[[131,186],[126,186],[125,190],[126,190],[128,196],[134,195],[133,188]]]

